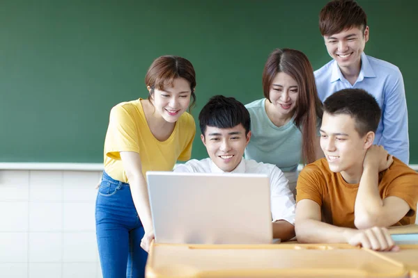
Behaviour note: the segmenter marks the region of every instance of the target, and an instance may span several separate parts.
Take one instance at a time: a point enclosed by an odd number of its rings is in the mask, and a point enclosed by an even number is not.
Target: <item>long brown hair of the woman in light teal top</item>
[[[284,72],[297,82],[299,97],[293,122],[302,131],[302,156],[304,163],[315,161],[318,119],[322,119],[323,106],[316,91],[314,70],[305,54],[295,49],[275,49],[263,71],[263,92],[270,101],[270,88],[274,77]],[[271,102],[271,101],[270,101]]]

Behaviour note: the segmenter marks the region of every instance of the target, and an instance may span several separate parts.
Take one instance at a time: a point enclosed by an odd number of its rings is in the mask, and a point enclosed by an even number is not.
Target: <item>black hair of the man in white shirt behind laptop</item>
[[[206,126],[215,126],[219,129],[231,129],[242,124],[245,136],[249,132],[249,112],[244,104],[233,97],[215,95],[203,106],[199,113],[199,126],[205,136]]]

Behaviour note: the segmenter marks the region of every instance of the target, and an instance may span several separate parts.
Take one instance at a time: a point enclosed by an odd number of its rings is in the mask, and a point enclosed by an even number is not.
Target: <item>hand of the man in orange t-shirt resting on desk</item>
[[[394,240],[386,228],[373,227],[371,229],[346,231],[347,242],[350,245],[361,246],[375,251],[398,251]]]

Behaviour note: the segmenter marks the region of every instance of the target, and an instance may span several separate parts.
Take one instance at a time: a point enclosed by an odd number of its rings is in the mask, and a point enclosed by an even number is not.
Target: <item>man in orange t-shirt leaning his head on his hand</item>
[[[385,227],[415,223],[418,174],[373,145],[380,115],[376,99],[362,89],[340,90],[325,100],[325,158],[304,167],[297,180],[300,242],[398,250]]]

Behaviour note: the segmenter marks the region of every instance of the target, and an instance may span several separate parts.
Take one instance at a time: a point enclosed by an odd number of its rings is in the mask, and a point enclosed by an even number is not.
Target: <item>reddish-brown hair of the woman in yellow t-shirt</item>
[[[196,88],[196,73],[194,67],[189,60],[180,56],[160,56],[154,60],[150,65],[145,76],[146,86],[150,86],[151,90],[148,95],[148,100],[152,97],[154,89],[163,90],[164,85],[173,85],[174,79],[183,78],[190,84],[190,101],[189,111],[196,103],[196,95],[194,95],[194,88]]]

